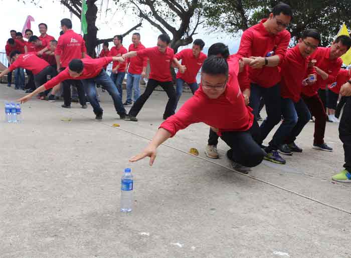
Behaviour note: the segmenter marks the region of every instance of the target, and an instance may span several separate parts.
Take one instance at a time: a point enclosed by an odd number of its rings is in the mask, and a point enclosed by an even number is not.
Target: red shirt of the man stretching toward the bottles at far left
[[[96,58],[93,59],[91,57],[89,58],[83,58],[82,62],[84,64],[83,72],[80,76],[78,77],[71,77],[70,73],[68,71],[68,67],[61,71],[57,76],[49,80],[44,84],[46,89],[52,88],[55,85],[59,84],[61,81],[64,81],[66,79],[89,79],[89,78],[95,78],[102,70],[102,68],[110,63],[112,61],[112,57],[101,57],[101,58]]]

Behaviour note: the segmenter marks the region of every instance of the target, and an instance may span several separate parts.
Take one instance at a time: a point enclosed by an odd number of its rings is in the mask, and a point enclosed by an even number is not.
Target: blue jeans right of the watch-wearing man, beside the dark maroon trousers
[[[269,142],[271,149],[277,149],[283,143],[292,143],[311,119],[311,113],[302,98],[296,103],[290,98],[281,98],[281,110],[284,120]]]

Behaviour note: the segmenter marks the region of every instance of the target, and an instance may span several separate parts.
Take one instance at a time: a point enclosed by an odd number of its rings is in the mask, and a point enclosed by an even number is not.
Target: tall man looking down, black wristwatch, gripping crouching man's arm
[[[246,29],[241,36],[237,54],[254,58],[249,64],[249,79],[250,106],[256,117],[259,113],[260,99],[263,98],[266,103],[267,118],[260,126],[261,142],[281,118],[281,78],[278,65],[282,62],[290,42],[290,33],[285,28],[291,18],[291,7],[285,3],[278,3],[273,7],[268,19],[263,19],[259,24]],[[277,149],[272,149],[270,154],[279,159]]]

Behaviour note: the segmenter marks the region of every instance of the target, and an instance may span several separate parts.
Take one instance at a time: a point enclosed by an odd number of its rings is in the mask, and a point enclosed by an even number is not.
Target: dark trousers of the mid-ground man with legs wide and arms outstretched
[[[174,114],[173,108],[175,104],[175,90],[173,87],[172,81],[158,81],[155,79],[149,79],[147,81],[146,89],[144,93],[142,93],[139,98],[134,102],[133,106],[129,110],[129,115],[136,116],[142,106],[145,104],[146,100],[151,95],[152,91],[155,89],[157,85],[160,85],[163,90],[167,93],[168,102],[166,104],[166,108],[163,113],[163,118],[167,118],[168,116]]]

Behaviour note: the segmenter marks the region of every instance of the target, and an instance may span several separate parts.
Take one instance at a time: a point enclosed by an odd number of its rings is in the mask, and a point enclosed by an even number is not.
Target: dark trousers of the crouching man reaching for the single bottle
[[[263,151],[255,141],[260,138],[260,128],[255,120],[247,131],[222,132],[221,138],[231,147],[232,160],[244,166],[253,167],[262,162]]]

